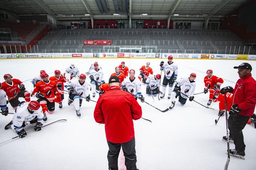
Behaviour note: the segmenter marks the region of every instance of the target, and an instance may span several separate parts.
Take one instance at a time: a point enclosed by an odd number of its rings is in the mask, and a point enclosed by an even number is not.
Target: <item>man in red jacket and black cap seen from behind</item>
[[[141,118],[141,107],[128,92],[122,91],[117,76],[109,78],[109,91],[101,95],[94,110],[96,122],[105,124],[108,142],[108,166],[118,169],[120,148],[125,156],[127,170],[136,170],[136,151],[132,120]]]

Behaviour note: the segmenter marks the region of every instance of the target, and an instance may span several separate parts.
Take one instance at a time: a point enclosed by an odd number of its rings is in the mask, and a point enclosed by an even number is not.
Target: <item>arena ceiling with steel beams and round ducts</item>
[[[0,7],[1,9],[8,10],[17,15],[50,14],[58,20],[220,20],[246,1],[247,0],[1,0]],[[114,4],[116,4],[116,8]]]

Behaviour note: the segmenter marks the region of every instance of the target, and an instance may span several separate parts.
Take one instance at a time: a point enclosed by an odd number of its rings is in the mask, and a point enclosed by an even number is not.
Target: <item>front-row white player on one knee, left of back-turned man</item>
[[[72,102],[74,103],[74,108],[76,109],[78,117],[81,116],[80,107],[83,101],[82,96],[86,97],[86,101],[90,101],[90,94],[85,79],[86,75],[80,74],[79,79],[72,79],[65,84],[65,88],[69,91],[68,105]]]

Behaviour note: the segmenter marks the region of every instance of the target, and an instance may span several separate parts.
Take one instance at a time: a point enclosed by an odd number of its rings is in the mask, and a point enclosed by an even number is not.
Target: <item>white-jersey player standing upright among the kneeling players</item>
[[[176,63],[172,61],[173,57],[170,55],[168,56],[168,61],[160,63],[160,70],[164,71],[164,79],[163,79],[163,87],[162,87],[162,95],[160,96],[161,99],[164,98],[164,94],[166,91],[166,87],[169,84],[169,94],[168,99],[171,98],[172,87],[174,81],[177,79],[178,74],[178,66]]]

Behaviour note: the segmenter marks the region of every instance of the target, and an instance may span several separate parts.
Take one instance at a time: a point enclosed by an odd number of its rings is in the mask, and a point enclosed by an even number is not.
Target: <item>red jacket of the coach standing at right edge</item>
[[[256,105],[256,81],[252,74],[240,78],[233,89],[233,105],[238,104],[238,108],[243,109],[239,114],[252,116]]]

